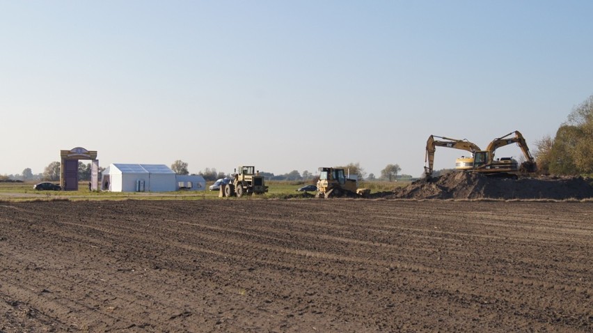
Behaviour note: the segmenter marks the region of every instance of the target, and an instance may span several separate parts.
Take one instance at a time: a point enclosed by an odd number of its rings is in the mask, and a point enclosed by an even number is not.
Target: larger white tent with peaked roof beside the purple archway
[[[164,164],[109,164],[101,188],[111,192],[170,192],[177,190],[175,172]]]

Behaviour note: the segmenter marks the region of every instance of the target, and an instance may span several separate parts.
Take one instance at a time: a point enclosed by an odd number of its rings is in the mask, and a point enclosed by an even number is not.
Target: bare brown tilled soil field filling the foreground
[[[593,203],[0,203],[0,332],[593,332]]]

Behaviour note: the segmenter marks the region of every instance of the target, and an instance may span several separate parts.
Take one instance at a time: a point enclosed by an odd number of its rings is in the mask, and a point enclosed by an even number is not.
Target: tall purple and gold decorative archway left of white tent
[[[78,161],[91,160],[90,163],[90,189],[96,191],[99,184],[99,160],[97,150],[86,150],[82,147],[70,150],[60,150],[62,158],[60,164],[60,185],[65,191],[78,190]]]

